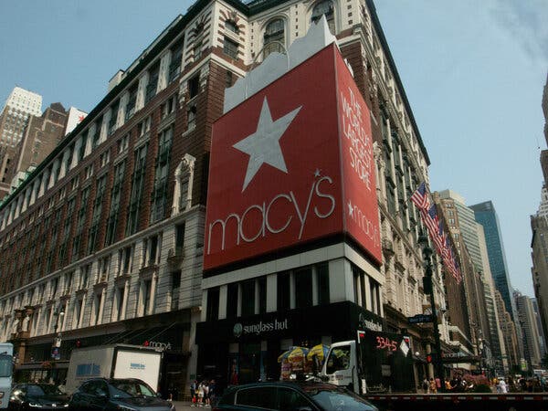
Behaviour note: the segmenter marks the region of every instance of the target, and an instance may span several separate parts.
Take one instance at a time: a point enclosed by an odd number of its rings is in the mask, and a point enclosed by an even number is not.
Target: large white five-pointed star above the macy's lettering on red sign
[[[265,97],[258,118],[257,131],[233,145],[240,152],[249,154],[248,171],[246,172],[242,192],[246,189],[255,174],[258,173],[263,163],[268,163],[284,173],[288,172],[283,153],[281,153],[281,147],[279,146],[279,139],[301,108],[302,106],[280,117],[277,121],[272,121],[269,101]]]

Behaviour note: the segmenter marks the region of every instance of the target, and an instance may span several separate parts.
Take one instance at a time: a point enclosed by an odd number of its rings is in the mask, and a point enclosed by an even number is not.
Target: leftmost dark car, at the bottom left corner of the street
[[[9,397],[8,409],[67,409],[68,396],[52,384],[17,384]]]

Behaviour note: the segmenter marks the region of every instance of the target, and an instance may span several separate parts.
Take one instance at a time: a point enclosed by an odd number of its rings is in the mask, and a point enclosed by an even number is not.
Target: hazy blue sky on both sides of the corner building
[[[0,103],[19,86],[43,108],[91,111],[188,0],[0,1]],[[430,158],[432,191],[491,200],[511,284],[533,296],[530,215],[543,175],[547,0],[376,0]]]

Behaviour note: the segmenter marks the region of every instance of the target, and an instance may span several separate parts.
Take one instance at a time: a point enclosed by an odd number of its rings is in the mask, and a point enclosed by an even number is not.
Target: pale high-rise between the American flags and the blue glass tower
[[[463,246],[466,246],[469,257],[473,262],[474,272],[482,283],[489,324],[489,328],[482,331],[482,337],[489,342],[494,368],[498,374],[503,374],[505,370],[508,370],[507,364],[505,366],[502,362],[506,350],[502,340],[498,310],[495,305],[494,284],[483,227],[476,221],[474,211],[466,205],[465,199],[461,195],[452,190],[444,190],[439,192],[439,197],[444,200],[452,200],[452,202],[442,202],[446,207],[446,220],[453,237],[457,236],[458,244],[462,243]],[[450,207],[452,209],[447,209],[447,205],[452,205]],[[472,284],[469,284],[469,288],[472,288]],[[473,295],[473,293],[469,291],[468,295]],[[479,315],[476,315],[475,318],[476,320],[473,322],[481,323]]]

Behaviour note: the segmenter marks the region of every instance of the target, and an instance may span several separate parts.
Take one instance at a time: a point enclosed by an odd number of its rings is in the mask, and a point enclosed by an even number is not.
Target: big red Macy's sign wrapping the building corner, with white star
[[[369,111],[329,46],[215,122],[204,269],[343,232],[381,262]]]

